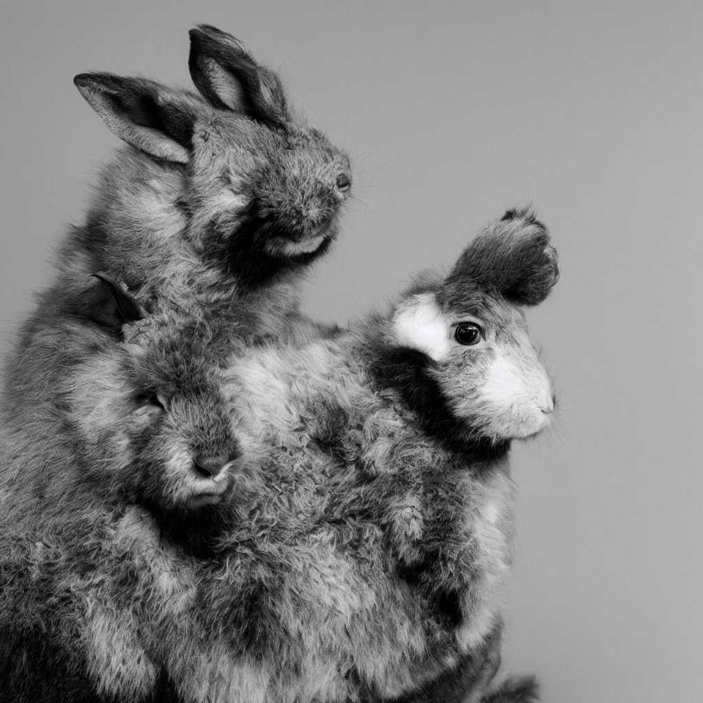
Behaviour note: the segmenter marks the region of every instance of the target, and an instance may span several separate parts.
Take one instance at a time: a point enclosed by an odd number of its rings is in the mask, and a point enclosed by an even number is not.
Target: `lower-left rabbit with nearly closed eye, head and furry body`
[[[141,610],[169,584],[165,598],[187,598],[189,560],[232,499],[240,449],[209,325],[145,316],[98,280],[84,314],[122,341],[96,337],[31,431],[0,432],[3,701],[178,701]]]

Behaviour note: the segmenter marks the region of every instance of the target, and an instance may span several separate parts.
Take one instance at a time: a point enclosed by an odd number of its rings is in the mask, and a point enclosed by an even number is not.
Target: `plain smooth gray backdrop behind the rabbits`
[[[532,201],[562,278],[531,313],[561,405],[514,452],[505,662],[557,702],[703,701],[699,2],[13,3],[0,21],[1,343],[117,145],[84,70],[188,82],[211,22],[356,160],[309,309],[344,321]]]

